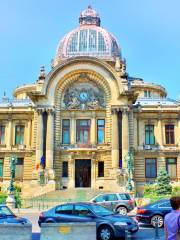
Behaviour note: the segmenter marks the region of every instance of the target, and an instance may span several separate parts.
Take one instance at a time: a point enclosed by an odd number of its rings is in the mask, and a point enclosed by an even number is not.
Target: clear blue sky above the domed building
[[[50,70],[58,41],[78,26],[89,4],[112,32],[129,75],[163,85],[180,95],[179,0],[1,0],[0,97],[34,83],[41,65]]]

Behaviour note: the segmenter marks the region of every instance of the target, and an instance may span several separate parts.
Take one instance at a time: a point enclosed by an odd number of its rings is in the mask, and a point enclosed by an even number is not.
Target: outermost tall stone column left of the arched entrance
[[[37,110],[37,137],[36,137],[36,166],[41,161],[43,155],[43,111]]]

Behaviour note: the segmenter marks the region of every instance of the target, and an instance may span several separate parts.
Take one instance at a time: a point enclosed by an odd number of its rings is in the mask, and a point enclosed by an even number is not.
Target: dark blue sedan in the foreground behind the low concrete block
[[[99,240],[113,240],[114,237],[124,237],[125,228],[134,233],[139,227],[137,221],[114,214],[109,209],[95,203],[68,203],[56,206],[39,216],[39,226],[42,223],[64,222],[96,222]]]

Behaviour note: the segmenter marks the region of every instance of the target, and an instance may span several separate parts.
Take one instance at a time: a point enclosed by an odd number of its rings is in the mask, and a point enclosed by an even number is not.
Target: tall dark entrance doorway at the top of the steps
[[[75,187],[91,187],[91,160],[75,161]]]

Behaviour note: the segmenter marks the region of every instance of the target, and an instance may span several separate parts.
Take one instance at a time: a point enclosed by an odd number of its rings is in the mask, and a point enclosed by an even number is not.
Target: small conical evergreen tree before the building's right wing
[[[166,170],[160,170],[158,173],[156,192],[158,195],[171,194],[172,192],[170,177]]]

